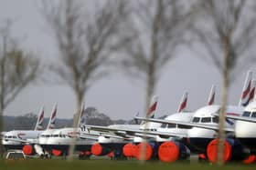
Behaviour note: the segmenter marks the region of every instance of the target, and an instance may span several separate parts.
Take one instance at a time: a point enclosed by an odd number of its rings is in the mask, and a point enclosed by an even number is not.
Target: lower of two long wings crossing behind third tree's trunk
[[[122,137],[134,137],[134,136],[145,136],[145,137],[155,137],[155,135],[159,135],[163,138],[167,137],[187,137],[187,135],[181,135],[177,133],[169,133],[169,132],[159,132],[159,131],[145,131],[145,130],[134,130],[128,128],[114,128],[107,126],[99,126],[99,125],[86,125],[86,128],[90,131],[100,131],[102,133],[112,133],[114,135],[122,136]],[[101,133],[101,135],[103,135]],[[132,139],[131,139],[132,140]]]

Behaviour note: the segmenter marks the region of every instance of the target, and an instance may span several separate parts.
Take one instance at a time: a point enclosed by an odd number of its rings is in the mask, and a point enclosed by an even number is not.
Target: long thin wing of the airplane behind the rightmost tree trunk
[[[190,122],[182,122],[182,121],[172,121],[172,120],[163,120],[163,119],[154,119],[154,118],[144,118],[144,117],[134,117],[134,119],[137,120],[143,120],[148,122],[155,122],[160,124],[175,124],[175,125],[186,125],[187,127],[199,127],[199,128],[205,128],[209,130],[216,130],[219,131],[218,125],[205,125],[205,124],[197,124],[197,123],[190,123]],[[233,128],[225,127],[224,130],[226,132],[234,132]]]

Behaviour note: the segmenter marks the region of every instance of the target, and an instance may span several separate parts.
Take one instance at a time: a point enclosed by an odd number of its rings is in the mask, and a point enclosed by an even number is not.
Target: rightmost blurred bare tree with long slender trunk
[[[194,45],[211,59],[222,75],[218,154],[218,162],[222,165],[229,85],[233,75],[248,68],[253,58],[251,51],[255,47],[256,18],[251,6],[255,7],[255,4],[246,0],[208,0],[199,1],[198,6],[200,12],[193,31],[199,41]]]

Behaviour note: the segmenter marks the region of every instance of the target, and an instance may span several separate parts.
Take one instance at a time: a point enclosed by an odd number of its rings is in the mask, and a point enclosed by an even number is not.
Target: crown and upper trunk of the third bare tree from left
[[[184,43],[189,15],[183,1],[144,1],[132,3],[133,42],[127,45],[123,65],[128,73],[145,82],[145,111],[155,92],[163,67]]]

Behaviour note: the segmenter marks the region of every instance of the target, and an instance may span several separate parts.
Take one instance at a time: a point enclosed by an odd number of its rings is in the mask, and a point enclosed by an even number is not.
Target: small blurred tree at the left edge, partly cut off
[[[39,60],[17,46],[17,40],[11,36],[9,20],[0,29],[0,38],[3,42],[0,55],[0,132],[2,132],[5,108],[36,79]]]

